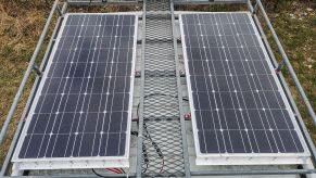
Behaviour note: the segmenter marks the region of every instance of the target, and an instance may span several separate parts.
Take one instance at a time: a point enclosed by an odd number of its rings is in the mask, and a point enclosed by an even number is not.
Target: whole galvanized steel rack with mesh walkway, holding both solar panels
[[[28,68],[25,73],[23,81],[16,93],[12,107],[1,129],[0,143],[2,143],[5,136],[10,120],[12,119],[16,106],[20,102],[20,98],[26,86],[30,73],[33,69],[38,74],[31,93],[27,100],[26,106],[22,114],[22,119],[18,123],[15,136],[12,140],[10,150],[2,165],[0,176],[10,176],[11,158],[13,151],[16,147],[21,130],[24,126],[24,118],[27,116],[29,107],[33,103],[34,96],[37,92],[38,84],[41,80],[41,73],[46,69],[47,61],[51,54],[51,50],[55,43],[56,35],[59,34],[60,26],[63,22],[64,14],[67,13],[68,5],[106,5],[109,3],[115,4],[141,4],[138,1],[73,1],[69,0],[60,8],[59,0],[55,0],[53,8],[48,17],[47,24],[39,39],[34,55],[29,62]],[[289,167],[227,167],[226,169],[208,169],[197,168],[194,161],[190,158],[192,156],[188,148],[192,140],[188,139],[188,131],[190,129],[190,120],[185,120],[185,115],[189,112],[189,106],[186,98],[186,79],[182,77],[182,52],[178,13],[174,12],[175,4],[231,4],[243,3],[247,4],[249,11],[252,13],[252,17],[261,33],[262,40],[267,49],[271,63],[275,65],[279,80],[287,93],[292,110],[296,115],[298,123],[301,127],[305,141],[308,144],[308,149],[312,154],[312,161],[308,165],[296,165]],[[52,34],[52,38],[49,41],[45,56],[40,67],[35,64],[35,59],[38,56],[39,51],[42,49],[42,43],[48,34],[48,29],[51,26],[54,13],[59,14],[59,18],[55,28]],[[278,40],[278,37],[267,17],[260,0],[256,0],[254,7],[250,0],[215,0],[215,1],[169,1],[169,0],[143,0],[142,13],[136,13],[139,15],[139,37],[138,37],[138,71],[137,75],[140,77],[136,82],[139,88],[139,96],[135,94],[137,101],[134,105],[134,112],[136,115],[137,125],[135,129],[137,131],[137,138],[135,139],[135,154],[130,157],[132,164],[128,174],[111,175],[110,177],[199,177],[199,176],[237,176],[237,175],[304,175],[316,173],[314,164],[316,163],[315,147],[305,127],[305,124],[300,115],[298,106],[291,97],[291,92],[287,87],[285,78],[280,73],[282,66],[286,66],[294,84],[303,99],[303,102],[309,113],[309,116],[316,125],[316,117],[312,105],[309,104],[306,94],[300,85],[298,77],[289,62],[289,59]],[[271,33],[278,50],[282,56],[282,61],[278,63],[269,47],[265,34],[263,31],[261,22],[258,21],[258,14],[263,16],[265,24]],[[187,116],[187,115],[186,115]],[[233,169],[233,170],[232,170]],[[13,167],[14,170],[14,167]],[[25,175],[25,173],[15,173]],[[83,174],[83,175],[81,175]],[[38,171],[34,175],[38,176],[54,176],[54,177],[94,177],[94,175],[88,170],[71,170],[62,176],[60,173],[54,171]],[[103,175],[106,176],[106,175]],[[109,175],[108,175],[109,176]]]

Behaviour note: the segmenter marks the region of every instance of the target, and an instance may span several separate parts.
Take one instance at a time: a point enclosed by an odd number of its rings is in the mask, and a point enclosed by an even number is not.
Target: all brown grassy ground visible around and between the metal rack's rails
[[[316,2],[303,0],[279,0],[264,1],[270,21],[282,42],[288,56],[296,72],[296,75],[304,87],[306,94],[316,110]],[[41,34],[46,18],[50,12],[51,2],[43,0],[34,1],[11,1],[0,0],[0,128],[8,115],[14,96],[18,89],[23,75],[27,68],[37,40]],[[228,10],[244,9],[242,7],[228,8]],[[185,7],[182,9],[218,11],[223,7],[211,8],[207,5]],[[103,12],[129,10],[128,8],[103,8]],[[139,10],[139,9],[137,9]],[[267,34],[271,41],[271,36]],[[46,41],[48,41],[47,38]],[[47,42],[46,42],[47,43]],[[276,49],[275,44],[273,49]],[[38,61],[43,55],[40,52]],[[278,56],[278,55],[277,55]],[[278,56],[279,58],[279,56]],[[287,81],[291,88],[294,99],[299,103],[301,113],[305,119],[308,130],[316,141],[316,128],[304,110],[298,91],[290,79],[287,69],[283,68]],[[24,104],[34,81],[35,75],[27,82],[21,104],[10,125],[5,141],[0,145],[0,165],[2,164],[11,139],[14,135]]]

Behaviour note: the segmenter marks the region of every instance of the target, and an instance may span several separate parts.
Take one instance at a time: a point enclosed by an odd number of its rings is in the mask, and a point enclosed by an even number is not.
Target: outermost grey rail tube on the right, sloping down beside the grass
[[[258,5],[258,8],[260,8],[260,10],[262,12],[262,15],[263,15],[263,17],[264,17],[264,20],[265,20],[265,22],[267,24],[267,27],[269,28],[269,30],[270,30],[270,33],[271,33],[271,35],[274,37],[275,42],[277,43],[278,50],[279,50],[279,52],[280,52],[280,54],[281,54],[281,56],[282,56],[282,59],[285,61],[286,66],[289,69],[289,73],[290,73],[290,75],[291,75],[291,77],[292,77],[292,79],[293,79],[293,81],[294,81],[294,84],[295,84],[295,86],[296,86],[296,88],[298,88],[298,90],[300,92],[300,96],[302,97],[303,102],[304,102],[305,106],[307,107],[308,114],[312,117],[312,122],[313,122],[314,126],[316,126],[316,115],[314,113],[312,104],[309,103],[308,98],[306,97],[306,94],[304,92],[304,89],[303,89],[303,87],[301,86],[301,84],[299,81],[299,78],[298,78],[298,76],[296,76],[296,74],[295,74],[295,72],[294,72],[294,69],[293,69],[293,67],[292,67],[292,65],[291,65],[291,63],[290,63],[290,61],[288,59],[288,55],[286,54],[285,49],[282,48],[281,42],[278,39],[278,36],[277,36],[277,34],[276,34],[276,31],[275,31],[275,29],[274,29],[274,27],[273,27],[273,25],[270,23],[265,10],[264,10],[263,4],[261,3],[261,0],[256,0],[256,3],[257,3],[257,5]]]

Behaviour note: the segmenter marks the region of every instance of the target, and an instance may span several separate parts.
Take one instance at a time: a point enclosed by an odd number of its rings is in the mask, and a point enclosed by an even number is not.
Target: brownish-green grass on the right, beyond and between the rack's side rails
[[[316,111],[316,2],[308,1],[282,1],[277,8],[268,8],[269,18],[275,27],[278,37],[283,44],[288,58],[303,86],[311,104]],[[267,38],[273,41],[269,33]],[[277,48],[271,42],[271,48],[277,53]],[[281,60],[277,53],[278,61]],[[291,89],[292,96],[298,103],[302,117],[305,120],[309,134],[316,142],[316,128],[313,126],[311,117],[300,99],[293,81],[288,71],[285,68],[283,74]]]

